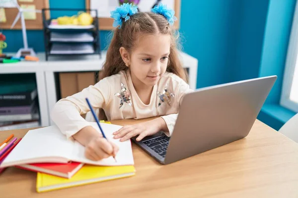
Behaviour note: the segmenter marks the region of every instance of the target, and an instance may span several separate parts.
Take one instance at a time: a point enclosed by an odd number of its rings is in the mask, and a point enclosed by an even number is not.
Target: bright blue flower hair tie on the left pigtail
[[[134,15],[138,12],[138,6],[133,5],[132,3],[123,3],[120,7],[116,7],[114,11],[111,11],[111,17],[114,18],[113,27],[119,25],[119,29],[122,26],[122,19],[127,21],[131,15]]]

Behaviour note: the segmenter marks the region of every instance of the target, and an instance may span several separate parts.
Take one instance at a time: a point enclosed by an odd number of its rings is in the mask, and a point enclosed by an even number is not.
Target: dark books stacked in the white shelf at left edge
[[[0,131],[39,126],[36,83],[1,84]]]

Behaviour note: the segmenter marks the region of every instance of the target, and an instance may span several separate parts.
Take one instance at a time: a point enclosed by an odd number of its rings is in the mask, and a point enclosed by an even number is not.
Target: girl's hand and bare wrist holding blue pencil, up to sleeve
[[[85,146],[85,156],[91,160],[101,160],[115,156],[119,150],[118,146],[103,138],[93,127],[87,126],[74,134],[80,144]]]

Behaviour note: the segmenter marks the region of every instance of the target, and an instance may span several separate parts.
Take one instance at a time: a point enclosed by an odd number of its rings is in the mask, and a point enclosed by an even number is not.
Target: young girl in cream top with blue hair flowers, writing
[[[107,50],[102,79],[59,100],[51,113],[60,130],[85,146],[85,156],[92,160],[115,156],[118,147],[80,116],[89,111],[86,98],[92,107],[103,109],[108,120],[159,116],[113,134],[120,141],[134,136],[141,141],[158,131],[170,136],[182,98],[192,91],[177,54],[173,10],[161,4],[151,12],[138,12],[135,5],[124,3],[111,11],[111,17],[118,28]]]

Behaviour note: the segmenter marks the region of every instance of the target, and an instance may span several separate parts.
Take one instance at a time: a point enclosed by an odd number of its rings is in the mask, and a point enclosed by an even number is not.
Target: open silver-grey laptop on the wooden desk
[[[277,76],[227,83],[186,94],[171,137],[162,131],[132,141],[169,164],[245,138]]]

